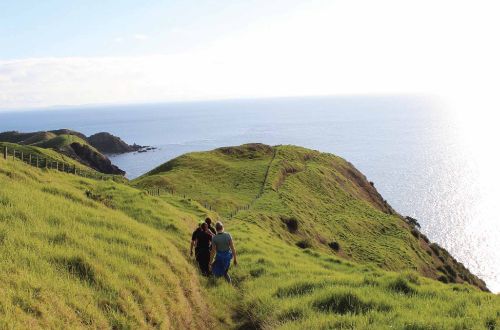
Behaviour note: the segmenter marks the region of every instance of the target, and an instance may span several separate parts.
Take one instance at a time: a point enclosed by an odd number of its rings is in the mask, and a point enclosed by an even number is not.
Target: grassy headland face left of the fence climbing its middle
[[[159,166],[137,182],[141,187],[173,188],[227,215],[254,199],[272,155],[269,147],[238,154],[231,154],[227,148],[189,153]],[[168,175],[164,175],[165,171]]]

